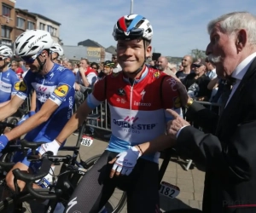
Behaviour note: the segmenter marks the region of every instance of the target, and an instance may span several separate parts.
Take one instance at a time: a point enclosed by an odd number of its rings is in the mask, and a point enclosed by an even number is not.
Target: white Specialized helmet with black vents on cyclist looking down
[[[44,49],[50,49],[53,39],[49,32],[30,30],[23,32],[15,41],[15,54],[22,56],[37,55]]]

